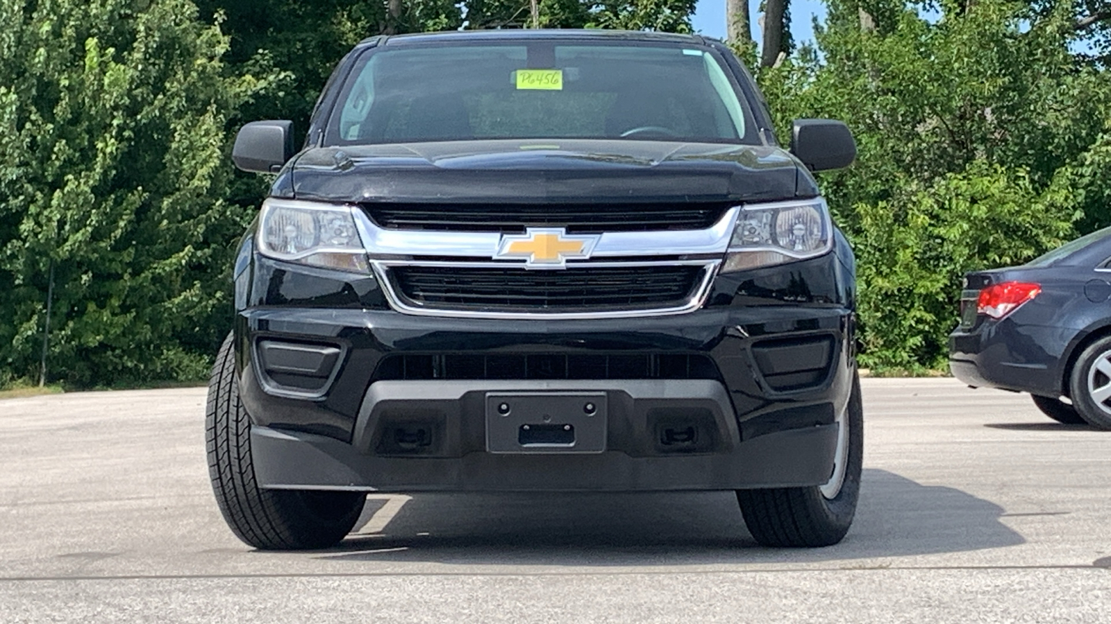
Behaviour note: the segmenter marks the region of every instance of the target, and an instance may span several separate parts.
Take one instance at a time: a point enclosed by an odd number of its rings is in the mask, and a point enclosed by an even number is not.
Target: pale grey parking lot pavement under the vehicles
[[[840,545],[731,493],[371,495],[339,547],[226,527],[203,389],[0,401],[0,622],[1108,622],[1111,434],[1027,395],[867,379]]]

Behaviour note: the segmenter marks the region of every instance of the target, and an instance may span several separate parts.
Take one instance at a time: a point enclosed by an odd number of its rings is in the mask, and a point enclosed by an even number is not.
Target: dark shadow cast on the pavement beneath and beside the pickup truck
[[[383,503],[368,505],[378,511]],[[821,562],[1023,543],[1000,522],[1002,513],[999,505],[960,490],[865,470],[857,520],[841,544],[772,550],[749,536],[731,492],[418,494],[384,526],[377,523],[380,533],[352,534],[317,556],[464,565]]]

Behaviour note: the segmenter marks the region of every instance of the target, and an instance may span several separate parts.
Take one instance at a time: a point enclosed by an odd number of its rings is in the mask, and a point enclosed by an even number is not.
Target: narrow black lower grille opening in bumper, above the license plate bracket
[[[408,380],[603,380],[719,379],[705,355],[529,353],[388,355],[373,381]]]

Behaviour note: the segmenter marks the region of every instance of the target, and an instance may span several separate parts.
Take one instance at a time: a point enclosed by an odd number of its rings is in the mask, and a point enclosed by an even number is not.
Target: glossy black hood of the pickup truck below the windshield
[[[581,139],[312,148],[273,189],[338,202],[752,202],[817,192],[774,147]]]

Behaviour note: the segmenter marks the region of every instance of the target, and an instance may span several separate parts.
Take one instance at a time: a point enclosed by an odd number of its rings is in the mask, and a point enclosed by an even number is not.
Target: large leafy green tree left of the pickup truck
[[[252,215],[224,201],[227,38],[187,0],[0,0],[0,384],[200,379]]]

